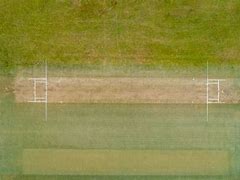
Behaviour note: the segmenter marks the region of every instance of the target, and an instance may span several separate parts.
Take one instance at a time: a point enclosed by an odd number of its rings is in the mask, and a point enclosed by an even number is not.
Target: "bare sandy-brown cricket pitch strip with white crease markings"
[[[240,95],[233,79],[220,84],[220,100],[239,103]],[[217,97],[217,86],[209,86]],[[44,85],[37,86],[44,95]],[[16,102],[33,98],[33,82],[16,78]],[[49,103],[206,103],[206,80],[190,78],[54,78],[48,79]]]

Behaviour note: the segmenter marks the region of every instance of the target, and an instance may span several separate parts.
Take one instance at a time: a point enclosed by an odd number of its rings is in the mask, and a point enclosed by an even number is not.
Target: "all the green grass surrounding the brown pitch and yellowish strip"
[[[183,78],[205,78],[208,62],[239,89],[239,20],[238,0],[0,0],[0,179],[239,179],[240,104],[210,105],[208,122],[206,104],[48,104],[46,122],[43,104],[14,97],[16,76],[42,74],[44,61],[52,77]],[[230,165],[216,176],[25,175],[26,149],[223,151]]]

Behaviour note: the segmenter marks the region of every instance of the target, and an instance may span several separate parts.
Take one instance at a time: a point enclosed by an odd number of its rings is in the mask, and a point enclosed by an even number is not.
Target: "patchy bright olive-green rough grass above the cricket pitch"
[[[0,65],[239,65],[237,0],[1,0]]]

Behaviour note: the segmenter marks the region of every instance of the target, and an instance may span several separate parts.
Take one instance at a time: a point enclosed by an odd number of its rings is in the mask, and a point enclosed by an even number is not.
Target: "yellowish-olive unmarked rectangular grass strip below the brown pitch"
[[[227,151],[25,149],[23,174],[227,175]]]

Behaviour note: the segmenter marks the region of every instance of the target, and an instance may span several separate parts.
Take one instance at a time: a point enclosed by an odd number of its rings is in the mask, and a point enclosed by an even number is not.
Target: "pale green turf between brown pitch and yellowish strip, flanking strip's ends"
[[[211,106],[208,123],[204,105],[53,104],[48,122],[43,109],[1,104],[2,173],[21,173],[24,148],[80,148],[228,150],[238,174],[239,105]]]

